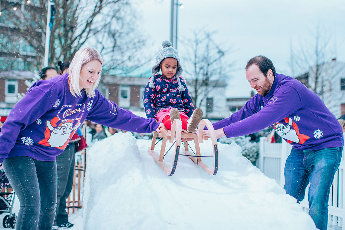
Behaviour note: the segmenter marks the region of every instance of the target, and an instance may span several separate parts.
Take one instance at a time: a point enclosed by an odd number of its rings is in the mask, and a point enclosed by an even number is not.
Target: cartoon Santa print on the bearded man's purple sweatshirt
[[[286,117],[284,121],[287,124],[277,122],[273,125],[273,129],[280,137],[286,139],[289,144],[292,142],[303,144],[309,139],[307,135],[299,133],[297,124],[291,118]]]

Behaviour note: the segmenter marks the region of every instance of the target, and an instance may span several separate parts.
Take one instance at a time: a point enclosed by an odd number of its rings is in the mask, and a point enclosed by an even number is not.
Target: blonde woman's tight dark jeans
[[[11,157],[2,165],[20,203],[16,229],[51,230],[56,211],[56,162]]]

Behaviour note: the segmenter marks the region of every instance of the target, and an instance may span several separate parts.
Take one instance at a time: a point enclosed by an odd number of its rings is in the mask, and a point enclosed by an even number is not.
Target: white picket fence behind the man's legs
[[[266,137],[260,138],[259,159],[257,167],[269,178],[275,179],[284,187],[284,166],[292,146],[283,140],[282,143],[269,143]],[[328,201],[328,224],[341,227],[345,230],[343,220],[345,218],[344,199],[344,151],[338,171],[335,173]],[[305,199],[301,202],[304,211],[309,211],[308,189],[306,188]]]

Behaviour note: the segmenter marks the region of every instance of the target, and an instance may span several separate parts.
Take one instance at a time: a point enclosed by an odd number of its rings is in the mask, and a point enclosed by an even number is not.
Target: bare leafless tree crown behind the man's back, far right
[[[293,72],[307,73],[307,87],[324,101],[331,112],[340,115],[337,113],[343,92],[339,76],[343,76],[345,71],[344,63],[332,61],[336,58],[336,50],[330,47],[332,34],[320,23],[309,34],[311,36],[306,37],[298,49],[291,45],[290,65],[295,68]]]

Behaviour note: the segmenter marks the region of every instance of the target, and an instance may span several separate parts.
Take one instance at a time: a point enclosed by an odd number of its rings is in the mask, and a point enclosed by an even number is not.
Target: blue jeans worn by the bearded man
[[[329,189],[342,154],[343,147],[320,150],[292,149],[286,159],[284,189],[299,203],[304,199],[305,189],[310,182],[309,215],[314,220],[316,228],[320,230],[327,229]]]

